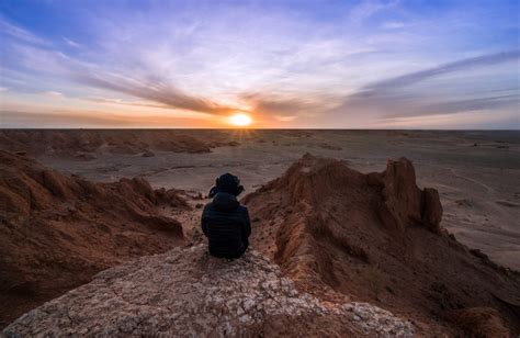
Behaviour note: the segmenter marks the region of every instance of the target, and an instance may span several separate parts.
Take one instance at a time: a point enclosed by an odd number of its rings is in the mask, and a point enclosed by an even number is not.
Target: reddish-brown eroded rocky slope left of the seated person
[[[163,207],[189,207],[144,179],[92,183],[0,150],[0,327],[97,272],[182,244]]]

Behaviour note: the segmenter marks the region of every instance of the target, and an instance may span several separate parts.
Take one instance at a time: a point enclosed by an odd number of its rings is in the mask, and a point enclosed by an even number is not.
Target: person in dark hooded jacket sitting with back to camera
[[[213,201],[204,206],[201,226],[212,256],[239,258],[249,246],[249,212],[237,200],[242,191],[238,177],[230,173],[217,178],[215,187],[210,190]]]

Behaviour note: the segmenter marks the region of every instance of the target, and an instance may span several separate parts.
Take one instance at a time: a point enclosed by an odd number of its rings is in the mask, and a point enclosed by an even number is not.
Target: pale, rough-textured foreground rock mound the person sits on
[[[237,260],[205,245],[99,273],[92,282],[29,312],[3,336],[410,337],[414,327],[365,303],[299,293],[278,266],[249,250]]]

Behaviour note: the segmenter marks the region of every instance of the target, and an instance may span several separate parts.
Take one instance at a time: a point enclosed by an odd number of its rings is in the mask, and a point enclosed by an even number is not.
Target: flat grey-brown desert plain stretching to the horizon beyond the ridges
[[[194,137],[205,137],[207,131]],[[222,133],[215,132],[215,133]],[[412,160],[419,185],[439,190],[442,225],[491,260],[520,270],[520,132],[226,131],[238,143],[212,153],[99,151],[91,160],[42,155],[45,165],[95,181],[144,177],[155,188],[206,194],[216,177],[240,177],[246,192],[281,176],[305,153],[346,160],[362,172],[382,171],[388,158]],[[194,219],[196,223],[196,219]]]

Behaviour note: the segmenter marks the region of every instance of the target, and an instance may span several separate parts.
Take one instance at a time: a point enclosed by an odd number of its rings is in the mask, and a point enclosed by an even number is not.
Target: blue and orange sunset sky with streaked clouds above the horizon
[[[0,1],[0,127],[520,129],[520,1]]]

